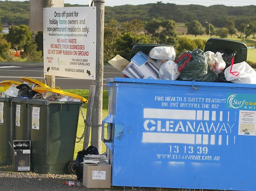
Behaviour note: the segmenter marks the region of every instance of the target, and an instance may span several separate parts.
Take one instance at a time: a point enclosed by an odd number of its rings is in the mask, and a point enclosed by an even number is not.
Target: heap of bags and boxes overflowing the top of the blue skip
[[[120,71],[128,78],[256,84],[256,71],[246,62],[235,63],[236,55],[232,50],[194,49],[176,57],[173,46],[156,46],[148,55],[137,52],[130,62],[117,55],[109,63],[119,70],[122,63]]]

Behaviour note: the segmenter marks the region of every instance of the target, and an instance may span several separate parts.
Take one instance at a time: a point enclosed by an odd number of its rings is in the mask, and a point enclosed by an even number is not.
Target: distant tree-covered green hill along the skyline
[[[84,6],[65,4],[65,7]],[[1,1],[0,22],[8,24],[29,24],[30,2]],[[114,18],[119,22],[129,21],[134,18],[147,21],[151,18],[171,19],[176,22],[186,23],[191,20],[206,21],[217,27],[223,27],[228,20],[234,20],[236,26],[242,22],[256,20],[256,6],[230,7],[225,5],[212,5],[209,7],[202,5],[176,5],[156,4],[145,5],[122,5],[115,7],[105,7],[106,22]]]

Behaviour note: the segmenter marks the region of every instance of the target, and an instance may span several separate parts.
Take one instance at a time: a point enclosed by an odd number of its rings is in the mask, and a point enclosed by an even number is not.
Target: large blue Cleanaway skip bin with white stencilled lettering
[[[112,186],[256,190],[256,85],[107,82]]]

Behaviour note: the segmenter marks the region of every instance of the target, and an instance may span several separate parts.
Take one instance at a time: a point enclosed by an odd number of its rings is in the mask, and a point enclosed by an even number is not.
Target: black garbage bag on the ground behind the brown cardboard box
[[[76,156],[76,163],[74,171],[77,176],[77,180],[83,181],[83,157],[85,155],[98,155],[98,149],[94,146],[89,146],[86,150],[79,151]]]

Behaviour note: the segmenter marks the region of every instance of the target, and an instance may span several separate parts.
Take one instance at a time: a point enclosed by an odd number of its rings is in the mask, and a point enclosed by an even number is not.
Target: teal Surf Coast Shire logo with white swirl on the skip
[[[241,97],[243,97],[243,98],[241,98]],[[255,109],[256,102],[254,102],[252,100],[248,101],[244,97],[245,96],[239,96],[237,94],[232,94],[232,95],[228,96],[227,106],[231,107],[232,109],[239,109],[242,107],[243,107],[243,109]]]

